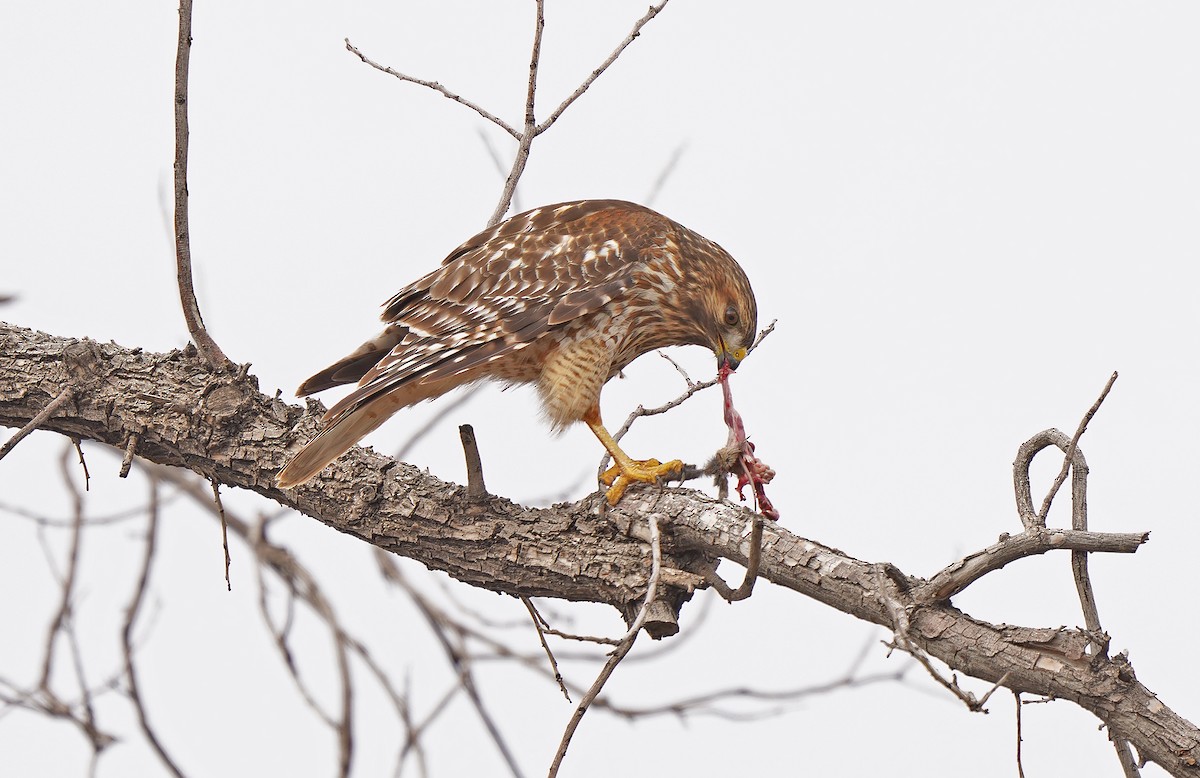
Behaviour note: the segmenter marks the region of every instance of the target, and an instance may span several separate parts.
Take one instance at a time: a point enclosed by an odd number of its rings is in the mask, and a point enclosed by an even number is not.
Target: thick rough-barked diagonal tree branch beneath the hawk
[[[594,498],[530,509],[472,499],[462,486],[359,448],[314,481],[280,491],[274,474],[295,442],[313,435],[319,403],[265,396],[253,377],[212,372],[192,351],[148,353],[0,323],[0,424],[24,426],[66,388],[73,396],[42,429],[116,448],[136,435],[138,456],[256,491],[491,591],[606,603],[628,617],[649,570],[641,516],[658,513],[671,584],[653,624],[659,636],[676,629],[679,605],[706,570],[749,553],[750,514],[684,489],[631,492],[604,513]],[[1043,546],[1037,552],[1070,547]],[[1200,729],[1146,689],[1124,657],[1088,654],[1084,632],[971,618],[937,596],[936,579],[862,562],[770,521],[760,575],[887,627],[958,672],[1075,702],[1142,759],[1200,776]]]

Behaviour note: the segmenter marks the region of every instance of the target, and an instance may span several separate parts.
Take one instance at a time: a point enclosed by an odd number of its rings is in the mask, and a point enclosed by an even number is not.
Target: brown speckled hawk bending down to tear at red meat
[[[649,208],[587,199],[535,208],[485,229],[384,304],[386,328],[305,381],[299,396],[358,387],[280,472],[304,484],[407,406],[482,378],[533,383],[551,425],[583,421],[616,465],[617,504],[679,460],[634,460],[600,420],[600,390],[664,346],[707,346],[726,372],[746,355],[757,307],[724,249]]]

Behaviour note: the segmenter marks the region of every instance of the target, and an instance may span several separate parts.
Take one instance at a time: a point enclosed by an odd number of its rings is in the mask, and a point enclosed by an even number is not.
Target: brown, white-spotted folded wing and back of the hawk
[[[400,341],[325,423],[409,382],[479,377],[487,363],[600,311],[632,285],[643,252],[661,247],[670,228],[641,205],[580,201],[475,235],[384,304],[383,319]]]

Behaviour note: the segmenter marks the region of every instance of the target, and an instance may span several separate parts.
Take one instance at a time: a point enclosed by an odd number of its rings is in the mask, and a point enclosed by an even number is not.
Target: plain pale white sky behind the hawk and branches
[[[540,116],[646,10],[548,5]],[[532,19],[533,4],[516,1],[198,2],[197,288],[210,331],[253,363],[264,391],[290,395],[373,334],[379,303],[481,228],[502,184],[481,133],[505,168],[514,146],[463,107],[368,68],[343,38],[516,125]],[[170,2],[0,7],[0,292],[19,294],[0,309],[6,321],[151,351],[186,342],[168,226],[176,23]],[[1196,720],[1198,30],[1200,7],[1188,2],[677,0],[535,142],[520,204],[644,201],[683,146],[654,207],[738,257],[761,323],[779,319],[733,390],[779,472],[770,493],[784,523],[910,574],[1018,531],[1016,447],[1049,426],[1073,431],[1118,370],[1084,438],[1091,525],[1153,534],[1136,555],[1092,558],[1100,616],[1139,678]],[[712,370],[702,349],[677,355],[695,376]],[[616,426],[679,389],[670,365],[644,357],[607,388],[606,418]],[[395,450],[437,408],[406,411],[368,442]],[[454,426],[472,423],[493,491],[577,498],[599,447],[582,426],[556,438],[536,418],[528,390],[488,389],[408,459],[461,480]],[[710,394],[641,423],[626,443],[697,461],[724,436]],[[66,515],[60,449],[52,435],[22,443],[0,465],[0,503]],[[143,480],[115,478],[118,457],[85,451],[89,511],[144,501]],[[1042,484],[1052,459],[1037,468]],[[227,501],[247,517],[275,509]],[[1067,504],[1064,491],[1052,520]],[[332,772],[332,737],[257,621],[250,553],[235,546],[229,594],[215,525],[184,501],[167,516],[139,630],[144,694],[167,748],[194,776]],[[96,681],[119,668],[113,624],[142,527],[85,537],[77,605]],[[56,588],[35,525],[8,510],[0,532],[0,676],[28,683]],[[65,533],[47,532],[61,557]],[[427,710],[444,660],[403,597],[377,581],[367,550],[301,516],[276,522],[272,537],[320,573],[397,676],[408,668],[414,705]],[[498,620],[523,617],[515,600],[451,586]],[[955,605],[997,623],[1082,621],[1064,553],[1013,564]],[[557,610],[619,629],[611,611]],[[698,612],[685,609],[685,630]],[[532,632],[512,634],[535,647]],[[793,688],[839,676],[866,644],[865,671],[902,666],[884,658],[883,638],[764,585],[749,602],[715,604],[686,647],[622,668],[608,688],[626,704]],[[331,693],[328,639],[313,630],[298,645],[308,677]],[[572,670],[581,681],[592,672]],[[544,773],[571,707],[516,670],[492,669],[484,690],[527,774]],[[127,737],[98,774],[157,774],[128,706],[115,694],[100,705],[102,725]],[[1008,694],[991,714],[971,714],[913,670],[904,683],[786,707],[752,723],[630,725],[593,712],[563,774],[1015,774]],[[391,771],[398,730],[378,710],[364,693],[358,776]],[[432,774],[502,774],[469,706],[448,716],[426,741]],[[1120,774],[1097,724],[1067,702],[1027,706],[1027,774]],[[67,724],[0,718],[6,774],[82,774],[88,758]]]

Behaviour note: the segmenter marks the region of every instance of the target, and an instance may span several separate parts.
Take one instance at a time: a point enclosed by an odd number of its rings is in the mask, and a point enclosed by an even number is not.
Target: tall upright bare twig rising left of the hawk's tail
[[[192,0],[179,0],[179,46],[175,52],[175,275],[179,301],[192,342],[214,370],[233,363],[204,328],[192,286],[192,247],[187,225],[187,71],[192,54]]]

